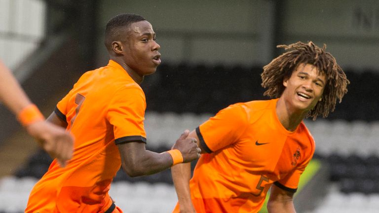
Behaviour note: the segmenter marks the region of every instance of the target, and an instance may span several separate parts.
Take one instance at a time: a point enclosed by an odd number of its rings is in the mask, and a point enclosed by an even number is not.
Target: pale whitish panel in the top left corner
[[[14,71],[44,36],[44,1],[0,0],[0,59],[7,67]]]

